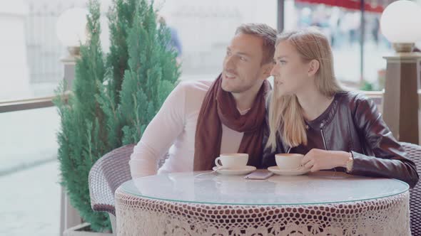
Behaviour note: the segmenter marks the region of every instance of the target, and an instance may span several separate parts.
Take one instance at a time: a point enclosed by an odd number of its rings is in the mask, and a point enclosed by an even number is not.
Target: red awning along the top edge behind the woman
[[[361,9],[361,1],[359,0],[295,0],[303,3],[310,4],[325,4],[329,6],[339,6],[345,9]],[[365,0],[364,1],[364,10],[371,12],[382,13],[387,5],[389,5],[394,0]]]

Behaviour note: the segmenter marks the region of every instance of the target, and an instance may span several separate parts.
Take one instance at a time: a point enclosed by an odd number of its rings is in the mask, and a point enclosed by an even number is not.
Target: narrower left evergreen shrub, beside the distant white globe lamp
[[[81,58],[76,62],[76,79],[73,93],[66,103],[62,97],[55,102],[61,115],[58,134],[61,184],[66,187],[71,205],[81,217],[91,222],[94,230],[110,228],[108,215],[91,210],[88,189],[88,173],[93,163],[109,151],[104,113],[93,99],[99,93],[98,83],[103,81],[105,66],[99,34],[100,9],[96,0],[88,3],[88,32],[90,39],[81,45]],[[62,87],[63,88],[63,87]],[[59,93],[63,93],[63,89]]]

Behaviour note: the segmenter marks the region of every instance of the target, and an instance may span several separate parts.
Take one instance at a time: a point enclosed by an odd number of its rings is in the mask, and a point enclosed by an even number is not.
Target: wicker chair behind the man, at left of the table
[[[131,180],[128,161],[135,144],[121,146],[108,152],[93,164],[89,171],[89,195],[94,211],[107,212],[110,215],[113,232],[116,232],[116,208],[114,193],[118,186]]]

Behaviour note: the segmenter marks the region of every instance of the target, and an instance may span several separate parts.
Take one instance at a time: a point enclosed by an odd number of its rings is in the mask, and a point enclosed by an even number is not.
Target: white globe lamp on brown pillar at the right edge
[[[383,119],[399,141],[420,144],[419,101],[421,53],[412,53],[421,39],[421,6],[413,1],[395,1],[380,18],[383,35],[395,49],[387,60]]]

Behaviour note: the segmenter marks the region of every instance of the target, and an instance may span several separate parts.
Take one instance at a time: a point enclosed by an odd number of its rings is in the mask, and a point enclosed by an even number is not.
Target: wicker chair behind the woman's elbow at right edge
[[[401,143],[408,154],[408,157],[415,162],[418,175],[421,176],[421,146],[409,143]],[[418,183],[410,190],[410,214],[411,232],[413,236],[421,236],[421,186]]]

